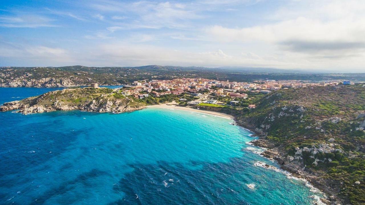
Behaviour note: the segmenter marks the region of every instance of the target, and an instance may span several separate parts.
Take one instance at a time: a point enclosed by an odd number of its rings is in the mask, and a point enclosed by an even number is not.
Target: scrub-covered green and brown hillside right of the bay
[[[303,155],[304,164],[336,180],[340,194],[351,204],[360,205],[365,203],[365,132],[356,130],[364,121],[357,118],[361,111],[365,111],[364,87],[331,86],[280,90],[263,97],[257,109],[240,116],[258,128],[269,125],[264,130],[267,138],[290,155],[296,146],[311,147],[334,138],[336,148],[344,153],[319,153],[316,158],[333,161],[318,166],[309,155]],[[341,121],[333,122],[334,117]],[[354,186],[355,181],[361,185]]]

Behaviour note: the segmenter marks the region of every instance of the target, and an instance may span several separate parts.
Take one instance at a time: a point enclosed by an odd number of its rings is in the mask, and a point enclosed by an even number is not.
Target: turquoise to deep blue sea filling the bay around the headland
[[[0,103],[57,89],[0,88]],[[160,108],[1,112],[0,204],[312,204],[303,181],[254,166],[277,165],[231,122]]]

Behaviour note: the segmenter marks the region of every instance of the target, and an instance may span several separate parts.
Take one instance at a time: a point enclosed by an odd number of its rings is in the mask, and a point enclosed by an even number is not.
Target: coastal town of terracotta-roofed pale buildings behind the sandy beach
[[[176,95],[181,97],[178,98],[180,105],[237,106],[254,109],[254,102],[256,101],[254,99],[258,99],[255,97],[261,97],[272,91],[314,86],[335,86],[339,83],[353,84],[353,82],[347,80],[329,83],[313,83],[303,80],[256,80],[253,83],[247,83],[204,78],[179,78],[134,81],[131,85],[126,85],[123,89],[120,89],[120,92],[139,99],[149,96]]]

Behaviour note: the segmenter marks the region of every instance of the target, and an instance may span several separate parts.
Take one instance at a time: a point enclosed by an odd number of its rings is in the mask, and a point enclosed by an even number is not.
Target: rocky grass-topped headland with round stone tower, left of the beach
[[[0,111],[43,113],[55,110],[81,110],[92,112],[130,112],[145,105],[129,99],[110,88],[76,88],[51,91],[23,100],[4,103]]]

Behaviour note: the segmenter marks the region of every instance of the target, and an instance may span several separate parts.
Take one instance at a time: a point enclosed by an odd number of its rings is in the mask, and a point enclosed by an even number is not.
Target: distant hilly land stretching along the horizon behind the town
[[[365,82],[365,73],[328,74],[276,68],[238,67],[181,67],[181,66],[139,66],[139,67],[1,67],[0,87],[57,87],[82,86],[96,82],[120,85],[143,79],[207,78],[253,82],[254,80],[353,80]]]

